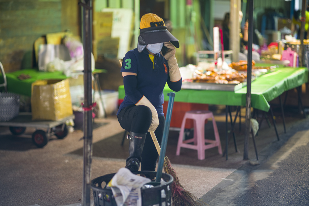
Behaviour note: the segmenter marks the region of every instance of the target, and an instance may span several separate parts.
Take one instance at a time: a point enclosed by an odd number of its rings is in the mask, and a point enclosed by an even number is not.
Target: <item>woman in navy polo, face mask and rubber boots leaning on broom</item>
[[[161,52],[163,46],[167,53]],[[175,57],[178,40],[167,31],[164,21],[155,14],[145,14],[140,23],[138,47],[122,59],[121,73],[125,98],[117,112],[118,121],[129,134],[129,157],[125,167],[130,171],[155,171],[158,153],[149,131],[161,144],[165,84],[179,91],[182,78]],[[162,50],[163,51],[163,50]]]

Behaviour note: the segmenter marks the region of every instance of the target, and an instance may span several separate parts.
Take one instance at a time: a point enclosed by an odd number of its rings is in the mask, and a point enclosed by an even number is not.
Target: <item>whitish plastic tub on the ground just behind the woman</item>
[[[95,91],[94,101],[97,103],[94,110],[96,117],[104,117],[105,114],[106,115],[116,114],[118,110],[118,91],[101,90],[101,98],[99,91]]]

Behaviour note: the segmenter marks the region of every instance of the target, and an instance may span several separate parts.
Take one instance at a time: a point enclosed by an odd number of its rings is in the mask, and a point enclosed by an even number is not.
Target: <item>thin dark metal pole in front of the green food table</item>
[[[247,160],[249,153],[249,135],[251,118],[251,71],[252,71],[252,40],[253,40],[253,0],[248,0],[249,28],[248,28],[248,69],[247,69],[247,98],[246,98],[246,132],[243,145],[243,159]]]

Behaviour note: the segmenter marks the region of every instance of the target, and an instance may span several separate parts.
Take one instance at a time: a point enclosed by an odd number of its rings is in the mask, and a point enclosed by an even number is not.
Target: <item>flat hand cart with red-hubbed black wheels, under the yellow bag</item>
[[[0,122],[0,126],[9,127],[15,135],[23,134],[27,127],[36,128],[36,131],[32,133],[32,142],[42,148],[48,143],[50,136],[55,135],[58,139],[63,139],[68,135],[66,121],[70,119],[75,119],[75,116],[70,115],[60,120],[32,120],[30,112],[20,112],[14,119]],[[42,129],[46,129],[46,132]]]

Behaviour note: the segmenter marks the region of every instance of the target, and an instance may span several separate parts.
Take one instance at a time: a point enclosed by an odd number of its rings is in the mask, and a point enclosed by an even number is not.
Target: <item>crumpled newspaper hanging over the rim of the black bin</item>
[[[149,182],[151,179],[135,175],[127,168],[120,168],[107,187],[112,189],[117,206],[141,206],[141,187]]]

